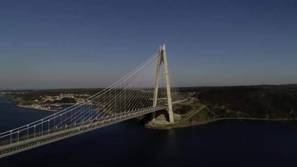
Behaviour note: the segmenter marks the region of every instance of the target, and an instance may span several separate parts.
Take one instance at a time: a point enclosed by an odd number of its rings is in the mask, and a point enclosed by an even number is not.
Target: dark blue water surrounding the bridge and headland
[[[52,112],[0,98],[0,131]],[[225,120],[169,130],[128,120],[0,159],[0,167],[296,166],[296,122]]]

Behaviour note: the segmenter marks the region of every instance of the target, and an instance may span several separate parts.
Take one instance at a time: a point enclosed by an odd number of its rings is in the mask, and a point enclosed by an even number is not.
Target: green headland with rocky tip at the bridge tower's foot
[[[167,112],[145,126],[168,129],[223,119],[289,121],[297,119],[297,84],[223,87],[182,87],[189,100],[173,106],[175,123]]]

